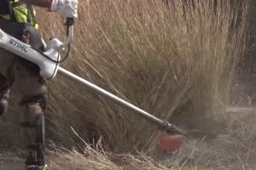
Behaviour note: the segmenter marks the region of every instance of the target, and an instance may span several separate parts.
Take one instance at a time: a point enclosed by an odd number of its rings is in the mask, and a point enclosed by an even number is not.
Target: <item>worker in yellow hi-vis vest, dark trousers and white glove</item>
[[[67,18],[78,17],[78,0],[1,0],[0,28],[41,51],[45,43],[38,32],[33,6],[48,8]],[[48,169],[44,161],[45,82],[38,65],[0,48],[0,116],[7,112],[10,88],[15,84],[21,96],[20,123],[27,140],[26,170]]]

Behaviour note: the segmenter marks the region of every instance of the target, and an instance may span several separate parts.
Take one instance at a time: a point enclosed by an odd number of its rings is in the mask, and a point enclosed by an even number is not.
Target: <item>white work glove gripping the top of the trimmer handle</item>
[[[67,18],[78,18],[78,0],[52,0],[50,11],[60,13]]]

